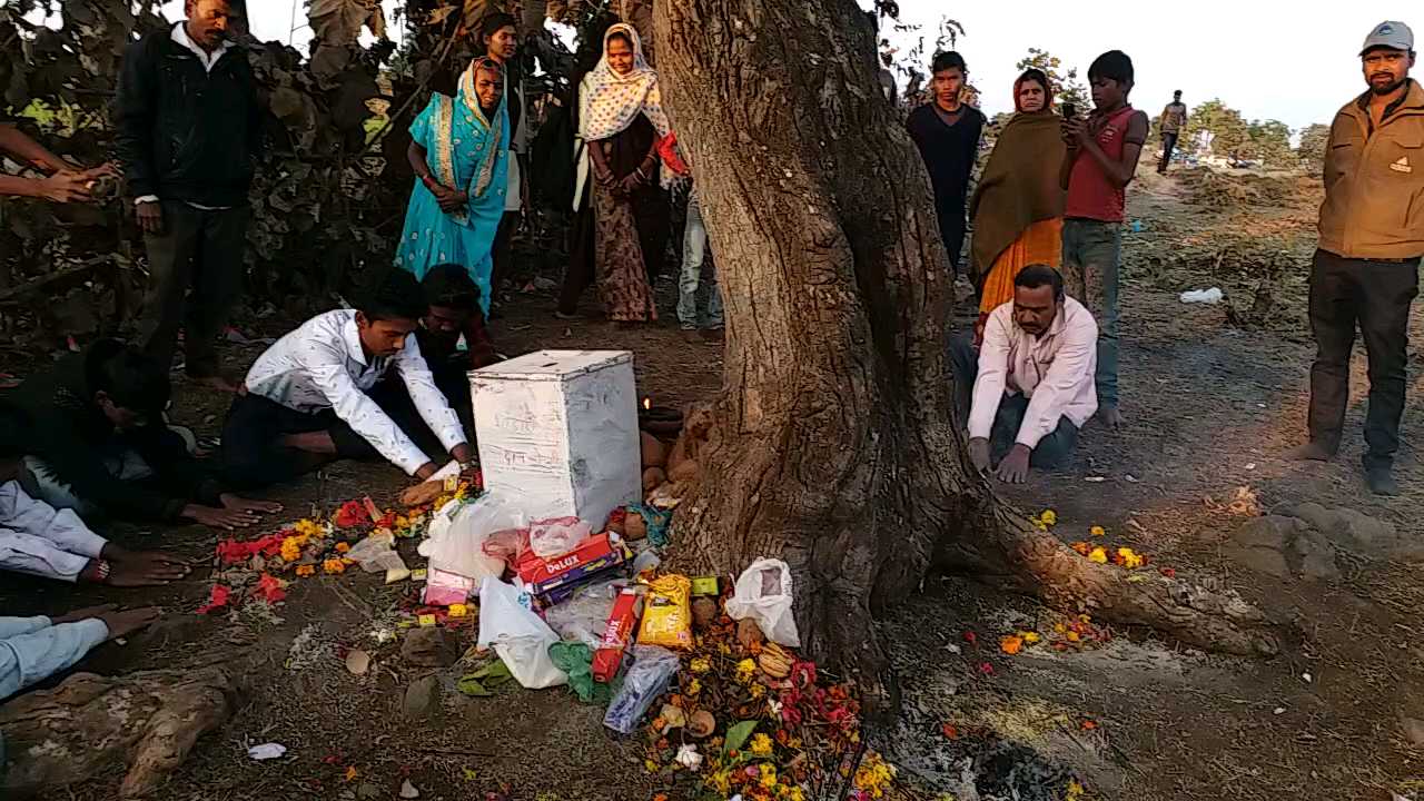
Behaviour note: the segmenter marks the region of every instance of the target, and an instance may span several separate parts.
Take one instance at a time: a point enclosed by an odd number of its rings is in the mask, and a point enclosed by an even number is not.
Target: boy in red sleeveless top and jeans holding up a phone
[[[1092,114],[1064,120],[1059,182],[1068,191],[1064,211],[1064,284],[1098,321],[1098,418],[1111,428],[1118,412],[1118,262],[1126,187],[1148,140],[1148,115],[1128,104],[1132,60],[1109,50],[1088,68]]]

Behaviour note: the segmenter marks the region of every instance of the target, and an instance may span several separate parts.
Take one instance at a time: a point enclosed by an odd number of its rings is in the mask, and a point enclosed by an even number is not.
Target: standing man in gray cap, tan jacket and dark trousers
[[[1326,150],[1320,245],[1310,268],[1310,442],[1292,455],[1326,460],[1340,448],[1356,322],[1370,362],[1364,477],[1398,495],[1410,302],[1424,255],[1424,87],[1408,77],[1414,33],[1380,23],[1360,51],[1368,90],[1341,108]]]

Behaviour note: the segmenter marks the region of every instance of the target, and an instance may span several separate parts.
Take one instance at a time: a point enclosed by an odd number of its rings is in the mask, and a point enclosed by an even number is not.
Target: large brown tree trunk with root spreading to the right
[[[1266,647],[1255,610],[1128,584],[1012,523],[974,473],[953,423],[953,288],[928,178],[854,1],[659,0],[655,19],[728,319],[701,489],[676,519],[685,559],[723,574],[785,559],[803,644],[871,691],[893,690],[871,614],[937,554],[1012,589],[1051,582],[1062,606]]]

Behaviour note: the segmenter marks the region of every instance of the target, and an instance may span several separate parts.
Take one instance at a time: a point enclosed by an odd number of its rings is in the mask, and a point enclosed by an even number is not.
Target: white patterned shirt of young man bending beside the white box
[[[397,467],[414,475],[429,458],[366,392],[387,372],[400,373],[420,419],[444,448],[466,442],[460,418],[436,388],[414,335],[394,356],[367,358],[356,331],[356,312],[336,309],[313,316],[272,343],[248,371],[248,392],[288,409],[333,409]]]

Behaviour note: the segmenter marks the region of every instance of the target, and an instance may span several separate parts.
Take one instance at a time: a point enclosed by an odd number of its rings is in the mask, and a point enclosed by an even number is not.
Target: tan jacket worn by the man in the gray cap
[[[1320,249],[1344,258],[1424,255],[1424,87],[1410,90],[1371,133],[1368,94],[1330,124]]]

